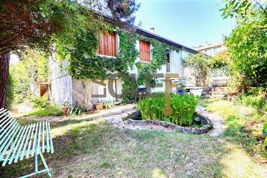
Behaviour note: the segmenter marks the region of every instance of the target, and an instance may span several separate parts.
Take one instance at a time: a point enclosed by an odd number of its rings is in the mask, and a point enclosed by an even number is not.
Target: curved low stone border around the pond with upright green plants
[[[132,113],[132,117],[134,118],[135,116],[140,115],[140,111],[136,111]],[[203,116],[201,114],[197,114],[198,117],[200,117],[201,123],[204,123],[205,126],[201,128],[189,128],[189,127],[182,127],[178,126],[174,123],[170,122],[163,122],[161,120],[134,120],[131,118],[131,116],[128,117],[127,123],[132,124],[133,126],[137,125],[147,125],[147,124],[154,124],[158,126],[163,126],[165,128],[169,128],[174,131],[179,131],[181,133],[194,133],[194,134],[204,134],[207,133],[208,131],[213,129],[213,123],[212,121],[207,118],[206,116]]]

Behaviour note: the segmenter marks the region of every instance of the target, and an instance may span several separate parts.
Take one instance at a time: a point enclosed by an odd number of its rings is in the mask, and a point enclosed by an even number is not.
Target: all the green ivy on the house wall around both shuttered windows
[[[81,30],[75,33],[73,39],[75,43],[66,45],[64,43],[57,44],[58,55],[63,59],[67,56],[67,70],[75,79],[99,78],[108,79],[112,73],[119,72],[122,74],[119,78],[124,82],[122,84],[122,93],[124,101],[130,99],[130,74],[128,68],[137,66],[139,76],[136,84],[145,84],[147,74],[156,73],[157,70],[166,63],[166,49],[172,49],[179,52],[179,48],[169,44],[157,41],[155,39],[144,37],[135,32],[128,32],[118,27],[106,24],[102,27],[104,31],[115,31],[119,35],[119,52],[116,58],[103,57],[96,54],[99,45],[99,34],[92,33],[87,30]],[[149,63],[136,62],[139,51],[136,49],[136,41],[144,40],[152,44],[152,59]],[[64,46],[62,46],[64,44]],[[155,78],[151,78],[151,82],[155,83]]]

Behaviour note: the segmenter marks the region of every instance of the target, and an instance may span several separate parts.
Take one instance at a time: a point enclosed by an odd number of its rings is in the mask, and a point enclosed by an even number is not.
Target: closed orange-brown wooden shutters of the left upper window
[[[115,32],[108,32],[108,35],[104,31],[101,33],[97,54],[113,57],[117,56]]]

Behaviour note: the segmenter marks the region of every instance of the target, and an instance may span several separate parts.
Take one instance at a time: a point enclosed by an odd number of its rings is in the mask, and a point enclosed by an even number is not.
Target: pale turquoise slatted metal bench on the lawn
[[[16,163],[18,159],[35,156],[35,172],[22,176],[29,177],[42,172],[51,172],[45,162],[43,153],[53,153],[52,135],[49,122],[39,122],[21,126],[10,111],[0,109],[0,162],[2,166]],[[40,154],[45,169],[38,170],[37,157]]]

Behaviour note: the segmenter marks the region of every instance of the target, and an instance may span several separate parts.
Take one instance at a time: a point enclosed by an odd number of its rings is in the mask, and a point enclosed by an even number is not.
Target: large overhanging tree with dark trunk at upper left
[[[7,108],[9,52],[27,48],[50,52],[60,39],[73,40],[84,29],[97,35],[101,13],[118,25],[128,25],[139,5],[135,0],[4,0],[0,2],[0,108]],[[96,12],[97,11],[97,12]],[[98,36],[98,35],[97,35]],[[59,38],[58,38],[59,37]],[[64,38],[63,38],[64,37]]]

